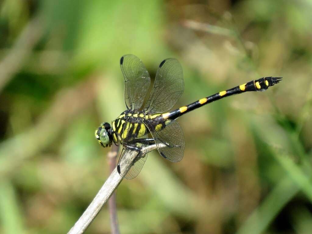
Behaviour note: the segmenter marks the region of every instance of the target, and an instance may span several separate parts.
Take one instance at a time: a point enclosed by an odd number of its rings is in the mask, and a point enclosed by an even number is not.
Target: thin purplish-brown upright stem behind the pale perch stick
[[[108,156],[108,164],[110,166],[110,173],[114,171],[116,168],[116,158],[119,151],[119,146],[113,144],[110,152],[107,154]],[[117,208],[116,208],[116,191],[110,197],[108,201],[108,210],[110,213],[110,229],[112,234],[119,234],[119,226],[118,226],[118,217],[117,217]]]

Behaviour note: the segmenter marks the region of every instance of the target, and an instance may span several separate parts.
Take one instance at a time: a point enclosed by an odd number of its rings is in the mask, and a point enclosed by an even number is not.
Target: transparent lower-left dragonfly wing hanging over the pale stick
[[[146,139],[148,136],[146,133],[147,129],[145,125],[139,121],[127,121],[124,124],[124,129],[121,132],[121,135],[124,138],[123,150],[117,164],[117,170],[118,173],[126,179],[133,179],[136,177],[146,161],[148,154],[142,154],[135,150],[135,148],[140,149],[145,145],[140,143],[139,140]]]

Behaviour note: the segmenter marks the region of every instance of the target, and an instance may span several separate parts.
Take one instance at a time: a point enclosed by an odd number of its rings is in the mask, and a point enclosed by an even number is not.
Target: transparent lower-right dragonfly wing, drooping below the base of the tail
[[[147,127],[155,140],[159,154],[172,162],[179,162],[183,158],[184,134],[177,121],[170,119],[163,123],[155,121],[147,123]],[[161,143],[167,146],[160,147]]]

